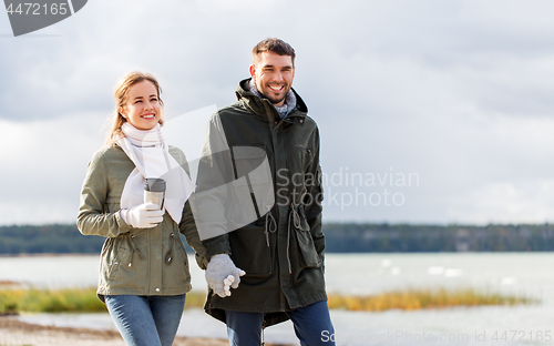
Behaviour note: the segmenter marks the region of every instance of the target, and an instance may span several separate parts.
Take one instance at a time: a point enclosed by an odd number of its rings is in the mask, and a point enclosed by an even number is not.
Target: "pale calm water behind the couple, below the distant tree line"
[[[193,257],[193,289],[204,291],[204,273]],[[468,288],[535,298],[526,306],[455,307],[382,313],[331,311],[337,345],[554,345],[554,254],[396,253],[327,254],[329,293],[367,295],[406,288]],[[28,287],[96,286],[99,255],[0,257],[0,281]],[[22,322],[114,329],[107,313],[23,314]],[[177,335],[226,337],[225,325],[202,309],[186,309]],[[265,330],[268,343],[296,344],[290,322]]]

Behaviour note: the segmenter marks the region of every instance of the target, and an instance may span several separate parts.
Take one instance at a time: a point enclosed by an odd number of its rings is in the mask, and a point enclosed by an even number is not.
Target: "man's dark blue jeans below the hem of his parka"
[[[335,346],[330,335],[335,334],[327,302],[318,302],[287,313],[302,346]],[[261,345],[264,313],[225,311],[227,336],[232,346]]]

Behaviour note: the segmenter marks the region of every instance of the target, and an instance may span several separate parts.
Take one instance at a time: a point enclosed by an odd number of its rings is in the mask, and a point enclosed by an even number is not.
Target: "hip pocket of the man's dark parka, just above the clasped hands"
[[[266,245],[265,224],[256,221],[229,233],[230,257],[246,277],[271,275],[271,247]]]

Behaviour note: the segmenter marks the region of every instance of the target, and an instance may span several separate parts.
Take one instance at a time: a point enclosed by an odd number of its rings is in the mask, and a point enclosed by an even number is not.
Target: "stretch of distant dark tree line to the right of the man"
[[[554,225],[324,225],[328,252],[553,251]]]

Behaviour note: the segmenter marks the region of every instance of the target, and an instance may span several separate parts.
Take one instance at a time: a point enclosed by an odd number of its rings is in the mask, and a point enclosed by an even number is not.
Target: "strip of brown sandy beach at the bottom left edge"
[[[62,328],[0,317],[0,346],[125,346],[114,330]],[[225,339],[176,337],[174,346],[227,346]],[[269,344],[267,344],[269,346]],[[278,345],[273,345],[278,346]]]

